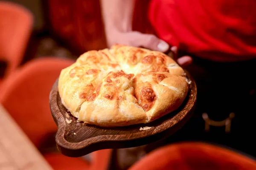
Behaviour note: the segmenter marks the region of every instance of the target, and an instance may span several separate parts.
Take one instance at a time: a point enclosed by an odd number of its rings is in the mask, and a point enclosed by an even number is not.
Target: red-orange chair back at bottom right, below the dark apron
[[[256,170],[256,161],[223,147],[184,142],[152,151],[129,170]]]

